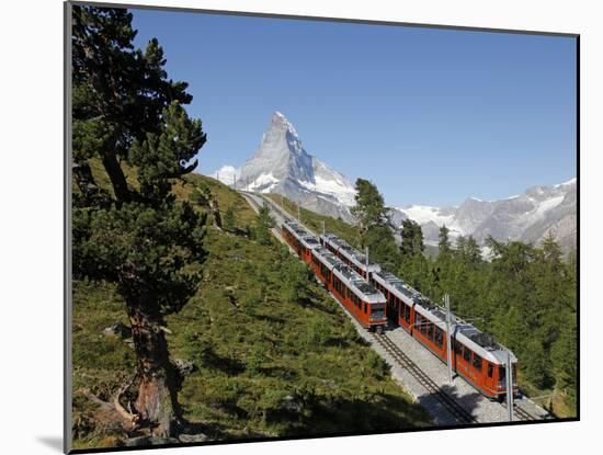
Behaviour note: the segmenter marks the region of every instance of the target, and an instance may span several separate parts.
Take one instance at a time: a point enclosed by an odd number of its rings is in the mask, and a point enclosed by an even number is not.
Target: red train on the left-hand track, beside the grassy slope
[[[379,291],[322,248],[318,239],[299,224],[285,221],[281,232],[297,255],[310,265],[316,276],[363,328],[383,330],[387,325],[387,300]]]

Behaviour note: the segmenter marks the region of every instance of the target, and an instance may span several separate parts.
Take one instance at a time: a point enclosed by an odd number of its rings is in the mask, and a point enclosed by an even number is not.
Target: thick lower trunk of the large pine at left
[[[178,417],[178,390],[158,305],[152,297],[136,302],[128,305],[128,316],[140,380],[135,407],[140,423],[149,424],[153,435],[169,437]]]

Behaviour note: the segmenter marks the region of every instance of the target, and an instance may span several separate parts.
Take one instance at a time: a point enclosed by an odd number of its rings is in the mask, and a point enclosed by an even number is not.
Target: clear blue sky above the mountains
[[[576,177],[570,37],[134,10],[207,144],[241,166],[274,111],[306,150],[389,205],[494,200]]]

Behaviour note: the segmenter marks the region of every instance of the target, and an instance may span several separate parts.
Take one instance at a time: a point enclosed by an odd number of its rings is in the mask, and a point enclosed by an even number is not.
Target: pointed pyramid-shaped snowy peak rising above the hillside
[[[355,190],[341,173],[309,155],[295,127],[274,112],[255,153],[240,171],[238,185],[248,191],[278,193],[302,206],[350,220]]]

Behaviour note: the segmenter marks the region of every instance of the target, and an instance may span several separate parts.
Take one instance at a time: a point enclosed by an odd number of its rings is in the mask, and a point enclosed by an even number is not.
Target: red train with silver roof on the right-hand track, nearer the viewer
[[[440,360],[447,362],[445,310],[401,278],[383,272],[378,264],[369,264],[366,255],[337,236],[322,235],[320,242],[363,276],[368,276],[371,284],[386,297],[386,312],[392,323],[401,326]],[[502,399],[507,395],[504,365],[510,353],[513,389],[519,393],[515,379],[517,360],[510,350],[454,315],[451,315],[451,340],[453,371],[492,399]]]

